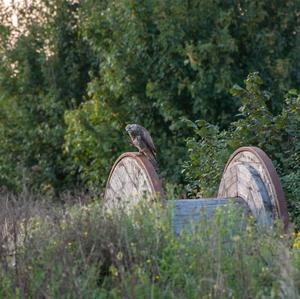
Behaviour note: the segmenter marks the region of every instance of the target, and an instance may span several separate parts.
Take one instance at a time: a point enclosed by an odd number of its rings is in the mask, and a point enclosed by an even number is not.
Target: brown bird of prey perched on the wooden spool
[[[156,149],[149,132],[138,124],[127,125],[125,130],[128,132],[132,144],[141,154],[149,159],[155,170],[158,170],[157,161],[155,159]]]

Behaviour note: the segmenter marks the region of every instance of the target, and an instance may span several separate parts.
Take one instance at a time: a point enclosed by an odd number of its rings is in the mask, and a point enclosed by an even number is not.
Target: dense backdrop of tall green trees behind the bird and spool
[[[102,190],[130,149],[131,122],[152,133],[164,180],[182,183],[192,134],[182,119],[227,128],[240,106],[229,89],[251,72],[275,115],[299,84],[298,1],[36,2],[0,4],[0,184],[10,190]]]

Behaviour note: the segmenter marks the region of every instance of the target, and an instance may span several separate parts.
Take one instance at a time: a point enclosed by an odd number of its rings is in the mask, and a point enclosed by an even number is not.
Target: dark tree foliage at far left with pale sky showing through
[[[1,185],[52,192],[72,181],[62,150],[63,117],[82,101],[91,68],[89,47],[79,37],[78,9],[55,0],[2,14]]]

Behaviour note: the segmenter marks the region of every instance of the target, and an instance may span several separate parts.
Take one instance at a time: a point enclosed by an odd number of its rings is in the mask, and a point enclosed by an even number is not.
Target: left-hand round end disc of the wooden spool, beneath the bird
[[[124,153],[109,174],[106,206],[130,207],[142,198],[163,196],[158,175],[150,161],[139,153]]]

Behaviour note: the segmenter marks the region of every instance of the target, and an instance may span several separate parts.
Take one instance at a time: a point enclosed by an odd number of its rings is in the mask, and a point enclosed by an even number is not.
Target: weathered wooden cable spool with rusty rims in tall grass
[[[112,167],[106,189],[105,203],[109,207],[129,208],[141,198],[163,197],[159,177],[149,160],[139,153],[122,154]],[[200,211],[211,215],[214,209],[230,200],[244,203],[259,224],[271,224],[281,219],[288,228],[288,213],[284,193],[276,170],[264,151],[257,147],[241,147],[229,158],[216,198],[177,199],[173,205],[175,232],[186,222],[197,220]]]

